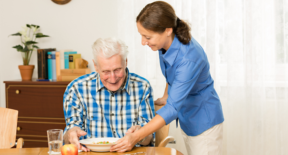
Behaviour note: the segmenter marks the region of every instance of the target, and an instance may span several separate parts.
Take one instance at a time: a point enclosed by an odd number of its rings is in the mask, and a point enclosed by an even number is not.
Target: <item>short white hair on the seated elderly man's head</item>
[[[129,51],[125,42],[120,39],[116,39],[115,37],[109,37],[104,39],[99,38],[93,43],[92,50],[95,65],[97,65],[98,57],[110,58],[113,55],[117,54],[122,57],[122,60],[125,62],[126,65],[126,58]]]

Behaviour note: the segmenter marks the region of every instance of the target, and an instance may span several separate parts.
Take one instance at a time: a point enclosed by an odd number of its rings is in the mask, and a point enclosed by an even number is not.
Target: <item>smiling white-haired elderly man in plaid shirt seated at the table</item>
[[[115,38],[99,38],[92,45],[96,72],[83,75],[66,88],[64,143],[89,149],[78,140],[123,137],[137,131],[154,117],[153,90],[141,76],[129,73],[128,49]],[[154,146],[155,133],[136,146]]]

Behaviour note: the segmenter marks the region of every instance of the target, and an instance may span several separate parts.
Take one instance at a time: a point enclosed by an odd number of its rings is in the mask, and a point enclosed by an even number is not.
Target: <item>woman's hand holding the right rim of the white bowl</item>
[[[125,152],[125,151],[131,151],[132,148],[137,143],[139,137],[135,133],[128,133],[123,138],[119,139],[115,143],[119,143],[117,145],[114,145],[110,148],[110,152]]]

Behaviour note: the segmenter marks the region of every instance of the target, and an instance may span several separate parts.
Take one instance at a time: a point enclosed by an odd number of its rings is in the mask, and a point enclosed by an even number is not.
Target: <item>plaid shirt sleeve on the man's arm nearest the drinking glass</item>
[[[64,129],[63,135],[69,129],[77,126],[82,130],[85,130],[83,127],[83,107],[81,102],[79,102],[79,98],[72,88],[66,89],[64,97],[63,97],[63,110],[64,116],[66,120],[66,127]]]

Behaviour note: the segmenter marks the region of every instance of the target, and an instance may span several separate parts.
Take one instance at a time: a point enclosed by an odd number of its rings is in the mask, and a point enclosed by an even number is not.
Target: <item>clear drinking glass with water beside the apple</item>
[[[61,155],[63,146],[63,130],[52,129],[47,130],[49,154]]]

